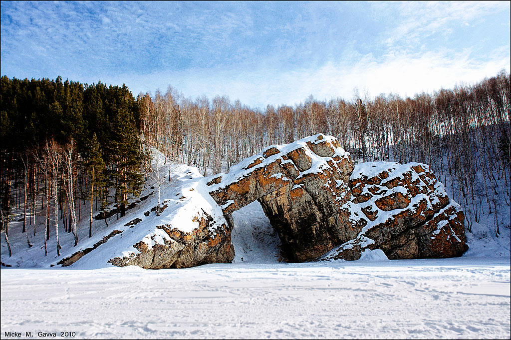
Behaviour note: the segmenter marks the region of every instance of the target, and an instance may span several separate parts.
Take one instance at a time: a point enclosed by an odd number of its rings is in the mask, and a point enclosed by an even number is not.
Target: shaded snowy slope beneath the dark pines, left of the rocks
[[[167,182],[165,188],[161,190],[162,201],[166,205],[179,205],[185,199],[191,199],[189,191],[188,198],[184,195],[177,195],[182,189],[183,182],[188,183],[189,189],[196,185],[194,178],[202,177],[196,168],[187,167],[180,164],[173,164],[172,166],[172,182]],[[168,171],[169,165],[167,164],[166,170]],[[48,241],[48,256],[44,256],[44,225],[42,224],[43,217],[37,219],[37,234],[34,237],[31,233],[29,235],[31,242],[34,244],[33,247],[27,246],[25,234],[21,234],[17,229],[21,228],[21,222],[17,221],[19,218],[15,218],[15,221],[11,222],[10,225],[10,243],[13,252],[13,256],[9,258],[7,245],[2,242],[2,262],[10,264],[12,266],[22,267],[51,267],[57,265],[63,259],[71,257],[73,254],[79,251],[87,250],[87,248],[94,248],[95,244],[101,242],[104,237],[110,236],[108,240],[98,245],[90,253],[80,258],[73,266],[81,268],[100,268],[111,266],[107,261],[112,257],[125,254],[127,252],[135,252],[133,244],[144,239],[146,235],[153,236],[158,235],[159,237],[165,237],[165,233],[155,228],[155,224],[159,222],[161,218],[172,220],[174,218],[179,219],[181,216],[173,216],[171,212],[174,209],[168,209],[167,214],[157,217],[155,214],[156,206],[156,192],[154,186],[150,183],[147,184],[146,189],[142,191],[141,198],[130,199],[129,205],[135,203],[135,207],[129,209],[126,216],[117,219],[116,215],[107,218],[108,226],[103,219],[93,219],[92,223],[92,237],[88,238],[88,218],[82,218],[78,224],[78,235],[79,242],[76,247],[73,246],[73,235],[71,233],[60,234],[60,245],[62,247],[59,257],[56,256],[56,243],[54,237],[50,237]],[[195,195],[194,195],[195,196]],[[202,195],[198,195],[201,198]],[[82,208],[86,209],[86,207]],[[152,211],[151,211],[152,210]],[[185,213],[184,211],[180,211]],[[15,212],[16,213],[16,212]],[[17,212],[18,214],[22,212]],[[99,213],[96,212],[95,215]],[[147,216],[146,216],[147,215]],[[82,215],[83,216],[83,215]],[[134,224],[132,221],[137,219],[142,220],[142,223]],[[157,222],[158,221],[158,222]],[[129,224],[131,222],[131,225]],[[29,226],[29,231],[32,228]],[[119,231],[121,233],[111,234],[112,231]],[[53,230],[52,230],[53,232]],[[158,242],[158,238],[151,240],[152,242]],[[113,245],[115,243],[115,245]]]

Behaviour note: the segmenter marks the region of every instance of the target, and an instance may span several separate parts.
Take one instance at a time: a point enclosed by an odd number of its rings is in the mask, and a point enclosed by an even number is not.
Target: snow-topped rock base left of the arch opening
[[[190,180],[193,177],[191,172],[174,178],[176,189],[167,191],[168,194],[172,193],[172,198],[163,201],[160,216],[147,211],[125,224],[128,227],[126,231],[132,229],[139,233],[134,236],[136,243],[128,243],[131,250],[111,258],[109,263],[121,267],[137,265],[161,269],[230,263],[233,260],[232,225],[227,223],[220,207],[204,189],[207,188],[204,177],[196,168],[192,170],[196,172],[193,175],[197,176],[194,180]],[[155,210],[156,207],[151,211]],[[154,227],[140,230],[147,228],[144,227],[147,222],[141,223],[146,218],[153,219],[150,224]]]

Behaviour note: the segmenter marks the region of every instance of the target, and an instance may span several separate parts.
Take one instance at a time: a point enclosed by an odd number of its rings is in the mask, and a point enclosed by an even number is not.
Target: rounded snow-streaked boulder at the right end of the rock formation
[[[463,212],[427,165],[362,163],[350,186],[365,226],[323,258],[356,260],[364,248],[381,249],[389,259],[456,257],[467,251]]]

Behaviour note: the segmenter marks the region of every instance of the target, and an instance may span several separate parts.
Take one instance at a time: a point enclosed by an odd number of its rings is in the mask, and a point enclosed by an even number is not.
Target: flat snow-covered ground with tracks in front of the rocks
[[[1,334],[509,338],[509,259],[2,269]]]

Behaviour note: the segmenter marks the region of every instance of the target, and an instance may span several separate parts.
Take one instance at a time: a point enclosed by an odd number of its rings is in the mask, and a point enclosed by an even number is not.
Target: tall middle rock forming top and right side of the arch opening
[[[345,203],[352,200],[350,154],[322,134],[270,146],[214,177],[210,195],[230,214],[258,200],[287,256],[314,259],[357,236]]]

